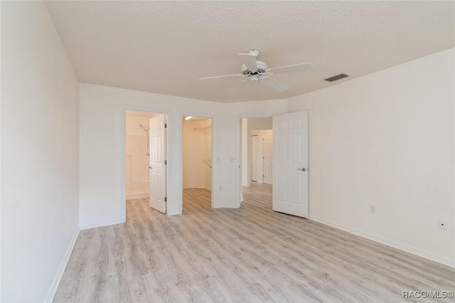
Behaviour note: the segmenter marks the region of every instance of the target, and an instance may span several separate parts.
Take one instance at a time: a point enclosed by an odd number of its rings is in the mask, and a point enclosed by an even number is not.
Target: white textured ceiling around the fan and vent
[[[289,98],[455,47],[454,1],[48,1],[81,82],[215,102]],[[277,92],[241,78],[261,51]],[[422,73],[429,73],[422,70]],[[346,73],[336,83],[323,79]]]

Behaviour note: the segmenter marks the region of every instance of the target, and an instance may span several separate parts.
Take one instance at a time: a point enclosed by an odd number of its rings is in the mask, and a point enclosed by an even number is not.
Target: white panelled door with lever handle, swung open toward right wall
[[[273,117],[272,209],[308,218],[308,112]]]

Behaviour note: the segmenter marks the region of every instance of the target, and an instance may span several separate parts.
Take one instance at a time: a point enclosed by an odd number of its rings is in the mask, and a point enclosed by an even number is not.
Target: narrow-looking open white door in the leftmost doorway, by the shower
[[[164,115],[150,119],[149,203],[166,213],[166,124]]]

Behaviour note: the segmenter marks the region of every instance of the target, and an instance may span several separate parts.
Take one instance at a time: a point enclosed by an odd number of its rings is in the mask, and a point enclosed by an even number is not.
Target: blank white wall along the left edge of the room
[[[50,302],[79,232],[79,87],[43,2],[1,2],[1,63],[1,301]]]

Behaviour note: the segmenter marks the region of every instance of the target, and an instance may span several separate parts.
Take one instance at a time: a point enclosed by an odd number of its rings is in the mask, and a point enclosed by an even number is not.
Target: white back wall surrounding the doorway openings
[[[182,116],[213,118],[214,207],[240,206],[240,117],[286,112],[286,100],[221,104],[80,84],[80,225],[121,223],[124,216],[124,112],[168,114],[168,214],[182,211]],[[123,181],[124,182],[124,181]]]

